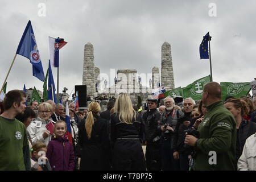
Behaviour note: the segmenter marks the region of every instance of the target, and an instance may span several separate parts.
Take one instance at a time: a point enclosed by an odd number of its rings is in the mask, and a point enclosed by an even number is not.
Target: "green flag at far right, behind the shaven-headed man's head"
[[[250,82],[233,83],[221,82],[221,98],[224,101],[227,96],[242,97],[247,96],[251,90]]]

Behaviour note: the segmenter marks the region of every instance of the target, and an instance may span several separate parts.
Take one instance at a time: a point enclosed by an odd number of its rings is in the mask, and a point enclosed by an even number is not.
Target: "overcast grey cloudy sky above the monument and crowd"
[[[216,11],[210,3],[216,5]],[[68,42],[60,50],[60,91],[67,87],[70,93],[74,85],[82,84],[84,45],[88,42],[94,46],[95,65],[109,76],[110,69],[137,69],[145,74],[154,66],[160,69],[161,46],[168,42],[175,87],[187,86],[210,74],[209,60],[200,60],[199,56],[199,44],[208,31],[212,36],[213,80],[253,81],[255,7],[254,0],[1,0],[1,86],[28,20],[44,73],[49,59],[48,36]],[[57,76],[56,68],[53,76]],[[18,55],[7,90],[23,89],[23,84],[43,90],[43,82],[32,76],[30,61]]]

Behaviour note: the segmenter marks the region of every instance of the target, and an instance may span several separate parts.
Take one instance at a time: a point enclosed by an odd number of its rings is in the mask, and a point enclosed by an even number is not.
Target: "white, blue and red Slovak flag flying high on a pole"
[[[59,49],[65,46],[64,39],[52,38],[49,36],[49,52],[52,67],[59,67]]]

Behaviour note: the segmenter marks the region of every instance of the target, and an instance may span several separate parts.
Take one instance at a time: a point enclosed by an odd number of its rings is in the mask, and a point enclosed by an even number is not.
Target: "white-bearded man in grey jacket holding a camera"
[[[163,171],[178,171],[179,160],[175,160],[173,153],[174,130],[177,125],[177,119],[183,117],[183,112],[174,108],[174,99],[171,97],[164,98],[166,109],[162,114],[158,129],[162,131],[162,169]]]

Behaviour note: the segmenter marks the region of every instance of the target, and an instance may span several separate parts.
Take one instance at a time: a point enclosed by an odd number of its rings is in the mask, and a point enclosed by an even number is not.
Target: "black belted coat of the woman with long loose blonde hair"
[[[119,114],[111,115],[110,136],[113,143],[112,165],[114,170],[146,171],[142,150],[142,119],[137,113],[133,124],[123,123]]]

